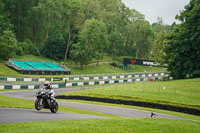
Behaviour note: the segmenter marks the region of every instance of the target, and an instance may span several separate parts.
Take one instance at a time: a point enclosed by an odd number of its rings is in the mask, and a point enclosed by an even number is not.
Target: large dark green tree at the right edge
[[[167,35],[166,58],[174,78],[200,76],[200,0],[191,0],[176,16],[181,24],[174,25]]]

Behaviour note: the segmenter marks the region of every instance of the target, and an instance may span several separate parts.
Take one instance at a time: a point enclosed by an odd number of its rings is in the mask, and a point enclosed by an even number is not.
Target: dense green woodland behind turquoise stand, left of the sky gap
[[[149,58],[153,45],[149,22],[121,0],[0,0],[0,12],[1,58],[42,54],[83,65],[105,53]]]

